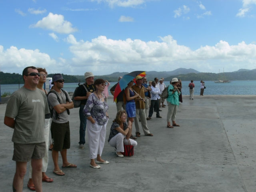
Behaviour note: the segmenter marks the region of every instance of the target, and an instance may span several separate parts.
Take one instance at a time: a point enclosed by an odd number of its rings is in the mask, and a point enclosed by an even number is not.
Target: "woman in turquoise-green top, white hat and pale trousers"
[[[178,85],[178,78],[172,78],[170,81],[170,85],[168,87],[168,98],[167,104],[168,104],[168,112],[167,112],[167,128],[173,128],[173,126],[178,126],[175,122],[176,112],[179,105],[179,95],[180,91],[177,88]],[[172,120],[172,126],[171,126],[171,120]]]

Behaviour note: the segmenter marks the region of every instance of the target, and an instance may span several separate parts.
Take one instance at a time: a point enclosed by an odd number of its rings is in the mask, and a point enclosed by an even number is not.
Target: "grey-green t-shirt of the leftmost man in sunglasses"
[[[49,112],[46,94],[42,90],[29,90],[23,86],[14,92],[5,112],[5,116],[15,119],[12,142],[44,142],[44,116]]]

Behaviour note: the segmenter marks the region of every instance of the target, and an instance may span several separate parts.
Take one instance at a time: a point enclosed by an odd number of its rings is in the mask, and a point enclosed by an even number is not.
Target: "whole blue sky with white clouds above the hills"
[[[256,0],[1,0],[0,70],[256,68]]]

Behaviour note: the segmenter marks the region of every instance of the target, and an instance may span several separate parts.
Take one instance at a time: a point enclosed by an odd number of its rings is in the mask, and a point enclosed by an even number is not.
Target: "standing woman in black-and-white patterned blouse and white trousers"
[[[109,163],[101,158],[108,123],[108,105],[104,102],[104,95],[102,94],[106,86],[105,81],[103,79],[96,79],[94,86],[96,91],[88,97],[84,106],[84,116],[87,118],[90,167],[99,169],[100,166],[96,163]]]

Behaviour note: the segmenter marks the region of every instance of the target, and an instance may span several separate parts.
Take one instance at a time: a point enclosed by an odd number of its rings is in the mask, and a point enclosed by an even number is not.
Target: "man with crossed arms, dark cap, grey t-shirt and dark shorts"
[[[52,159],[54,163],[53,173],[62,176],[65,173],[58,165],[58,153],[62,156],[62,168],[76,168],[75,164],[67,160],[67,149],[70,148],[69,129],[69,109],[74,108],[74,104],[68,93],[62,90],[64,79],[61,74],[52,76],[53,90],[48,93],[48,102],[52,110],[51,133],[53,139]]]

